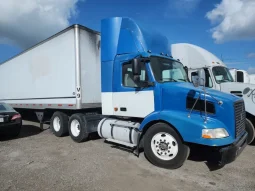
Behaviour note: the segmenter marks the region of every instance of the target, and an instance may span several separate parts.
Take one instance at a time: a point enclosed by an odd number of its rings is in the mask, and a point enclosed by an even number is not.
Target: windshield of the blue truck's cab
[[[167,58],[151,57],[151,68],[158,82],[188,82],[183,65]]]

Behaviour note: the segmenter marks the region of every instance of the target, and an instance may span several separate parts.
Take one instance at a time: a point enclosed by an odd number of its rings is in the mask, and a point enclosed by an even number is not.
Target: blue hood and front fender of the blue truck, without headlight
[[[156,104],[160,104],[161,108],[144,119],[140,126],[140,131],[152,121],[163,120],[172,124],[186,142],[222,146],[235,141],[233,102],[238,101],[240,98],[207,89],[210,95],[223,101],[224,104],[220,106],[212,97],[206,96],[207,101],[214,103],[216,114],[208,114],[208,121],[205,124],[205,116],[204,114],[201,115],[200,112],[193,111],[191,117],[188,118],[190,110],[186,109],[186,97],[190,91],[196,91],[194,98],[197,98],[199,93],[198,89],[191,83],[170,82],[159,84],[158,86],[157,89],[161,89],[162,93]],[[203,99],[203,97],[204,94],[202,93],[201,98]],[[222,141],[221,139],[215,141],[203,139],[201,138],[202,129],[206,128],[225,128],[230,136],[222,139]]]

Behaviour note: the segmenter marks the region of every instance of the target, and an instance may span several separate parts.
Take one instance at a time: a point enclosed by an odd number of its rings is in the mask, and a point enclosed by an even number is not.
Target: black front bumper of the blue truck
[[[225,165],[236,160],[247,145],[247,136],[248,134],[245,133],[238,141],[219,150],[219,162],[221,165]]]

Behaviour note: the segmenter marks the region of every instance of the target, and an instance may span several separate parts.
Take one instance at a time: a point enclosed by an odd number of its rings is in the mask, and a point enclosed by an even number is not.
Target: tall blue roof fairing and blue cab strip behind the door
[[[166,37],[146,32],[130,18],[103,19],[101,22],[102,92],[113,91],[110,75],[113,74],[113,64],[117,55],[128,55],[123,58],[125,61],[134,58],[129,54],[148,55],[148,50],[153,51],[154,55],[159,55],[161,52],[170,55],[170,46]],[[119,64],[116,63],[114,68],[117,66]]]

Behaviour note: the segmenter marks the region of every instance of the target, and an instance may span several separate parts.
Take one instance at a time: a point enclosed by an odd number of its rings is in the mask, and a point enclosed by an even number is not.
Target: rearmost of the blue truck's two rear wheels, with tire
[[[57,137],[68,135],[68,116],[65,113],[56,111],[51,118],[50,128]]]

